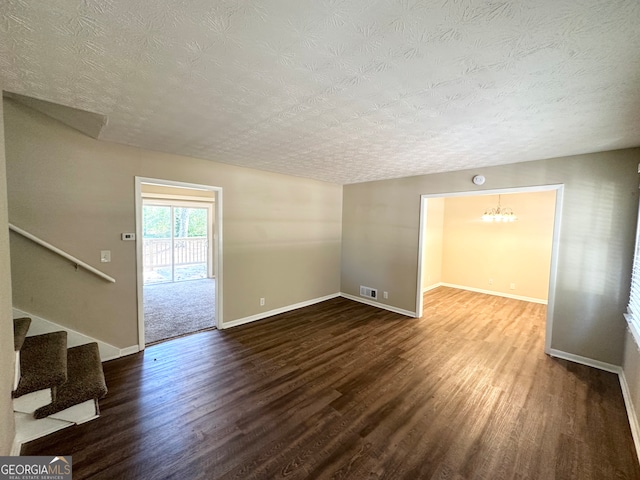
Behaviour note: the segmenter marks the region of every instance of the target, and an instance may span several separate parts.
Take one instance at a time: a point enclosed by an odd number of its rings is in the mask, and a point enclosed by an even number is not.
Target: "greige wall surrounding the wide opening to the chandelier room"
[[[342,291],[377,287],[415,311],[421,194],[564,184],[551,347],[620,365],[639,161],[640,149],[629,149],[347,185]]]

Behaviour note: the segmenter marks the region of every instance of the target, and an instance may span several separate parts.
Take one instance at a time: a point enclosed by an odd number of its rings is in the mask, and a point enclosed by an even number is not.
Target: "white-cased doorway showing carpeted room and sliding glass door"
[[[222,189],[136,177],[139,348],[221,322]]]

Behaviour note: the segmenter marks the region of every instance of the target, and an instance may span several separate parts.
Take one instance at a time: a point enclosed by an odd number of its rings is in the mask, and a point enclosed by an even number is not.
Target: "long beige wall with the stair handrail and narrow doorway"
[[[223,188],[225,322],[340,291],[341,186],[99,142],[10,100],[5,118],[11,221],[117,280],[12,234],[17,308],[138,343],[135,242],[120,240],[135,231],[135,176]]]

